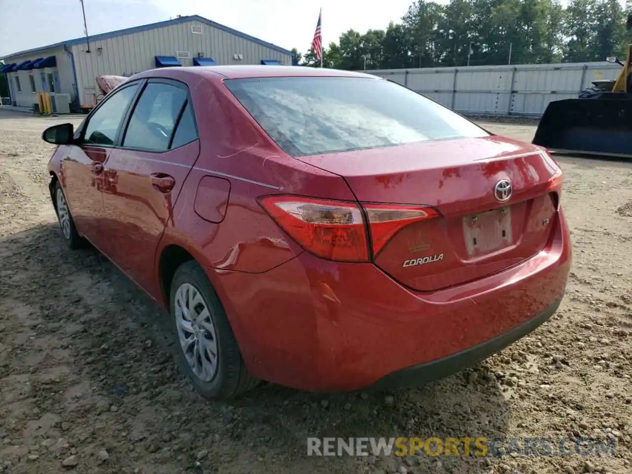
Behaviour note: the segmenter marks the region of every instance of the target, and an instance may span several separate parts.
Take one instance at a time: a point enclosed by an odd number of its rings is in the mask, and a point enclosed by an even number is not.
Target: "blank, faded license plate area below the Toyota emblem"
[[[511,208],[488,210],[463,217],[465,246],[470,257],[494,252],[513,243]]]

